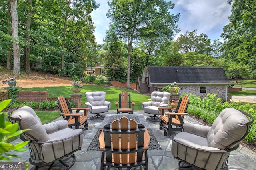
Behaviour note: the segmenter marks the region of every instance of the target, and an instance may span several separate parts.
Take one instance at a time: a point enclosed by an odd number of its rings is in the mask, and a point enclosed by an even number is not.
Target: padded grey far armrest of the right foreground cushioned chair
[[[184,132],[201,136],[204,138],[207,137],[207,134],[210,131],[210,129],[211,129],[210,126],[201,125],[201,124],[185,123],[183,125]]]

